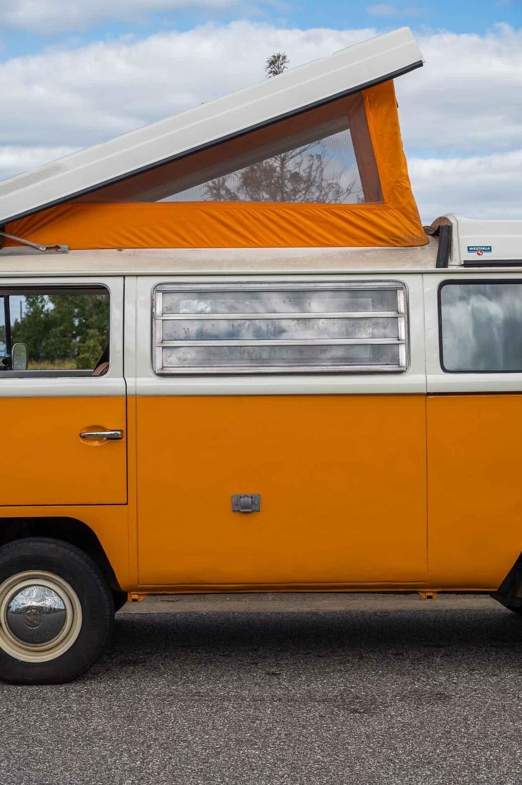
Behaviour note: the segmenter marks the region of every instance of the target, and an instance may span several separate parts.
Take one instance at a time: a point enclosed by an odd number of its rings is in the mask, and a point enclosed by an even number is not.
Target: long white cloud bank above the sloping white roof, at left
[[[259,82],[274,51],[299,65],[372,35],[234,22],[8,60],[0,64],[2,141],[94,144]]]

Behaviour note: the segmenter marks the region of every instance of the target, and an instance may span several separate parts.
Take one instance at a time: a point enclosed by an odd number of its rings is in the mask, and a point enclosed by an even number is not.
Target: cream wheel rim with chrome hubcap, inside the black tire
[[[0,648],[15,659],[57,659],[71,648],[81,628],[78,595],[58,575],[19,572],[0,586]]]

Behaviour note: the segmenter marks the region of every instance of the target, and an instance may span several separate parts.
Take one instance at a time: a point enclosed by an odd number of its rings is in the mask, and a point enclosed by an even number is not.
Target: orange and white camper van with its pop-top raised
[[[0,677],[148,594],[520,611],[522,223],[422,228],[419,64],[396,31],[2,184]]]

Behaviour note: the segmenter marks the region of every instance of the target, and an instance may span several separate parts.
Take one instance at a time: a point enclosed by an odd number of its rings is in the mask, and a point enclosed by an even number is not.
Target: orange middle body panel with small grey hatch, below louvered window
[[[141,586],[424,585],[424,396],[136,405]]]

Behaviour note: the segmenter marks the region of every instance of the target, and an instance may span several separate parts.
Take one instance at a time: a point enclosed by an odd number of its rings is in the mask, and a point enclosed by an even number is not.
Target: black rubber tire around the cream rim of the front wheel
[[[0,590],[9,579],[31,571],[56,576],[57,585],[68,586],[75,599],[75,636],[66,651],[46,662],[25,662],[9,650],[7,616],[0,618],[0,679],[13,684],[64,684],[72,681],[96,662],[111,637],[114,599],[97,564],[68,542],[45,537],[27,537],[0,548]],[[36,579],[35,579],[36,580]],[[38,582],[38,581],[36,581]],[[5,597],[7,591],[5,590]],[[0,593],[0,607],[2,595]],[[79,628],[79,631],[78,631]],[[74,640],[73,640],[74,638]],[[25,645],[25,644],[24,644]],[[58,652],[58,649],[57,649]],[[15,652],[16,654],[16,652]],[[32,654],[31,654],[32,655]]]

